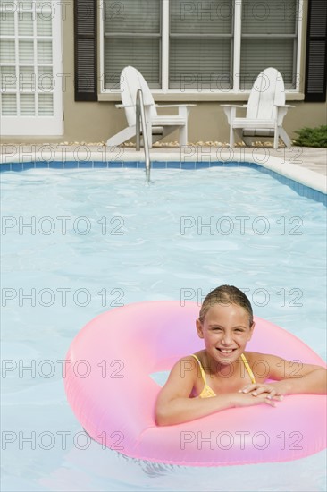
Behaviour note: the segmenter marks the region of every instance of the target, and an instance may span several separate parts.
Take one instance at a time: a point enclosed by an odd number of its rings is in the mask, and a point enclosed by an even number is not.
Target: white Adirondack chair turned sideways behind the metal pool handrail
[[[119,131],[106,142],[107,146],[117,146],[136,135],[136,95],[138,89],[143,91],[143,99],[147,120],[147,138],[149,147],[153,142],[164,139],[172,131],[180,131],[180,146],[188,143],[188,118],[191,106],[196,105],[155,105],[154,98],[143,75],[134,67],[127,66],[122,70],[120,88],[122,94],[122,105],[116,107],[124,108],[129,126]],[[157,107],[178,107],[178,115],[158,115]]]

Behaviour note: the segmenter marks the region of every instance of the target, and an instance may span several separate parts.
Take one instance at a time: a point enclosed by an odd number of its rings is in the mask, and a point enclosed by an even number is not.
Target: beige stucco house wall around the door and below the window
[[[101,142],[107,140],[117,131],[126,126],[125,116],[122,110],[115,108],[119,102],[74,102],[74,58],[73,58],[73,9],[68,6],[65,9],[65,20],[63,21],[63,72],[65,73],[65,88],[63,90],[64,108],[64,132],[61,137],[4,137],[3,142]],[[302,57],[302,66],[304,56]],[[180,96],[183,102],[196,102],[197,106],[191,110],[189,116],[189,142],[198,141],[219,141],[229,140],[229,126],[226,116],[223,114],[221,104],[235,103],[234,100],[222,98],[219,95],[211,94],[211,100],[205,100],[205,96],[197,94],[196,98],[187,99],[183,94]],[[172,100],[173,99],[173,100]],[[167,99],[167,96],[160,97],[161,103],[176,103],[179,97]],[[237,103],[246,103],[247,97],[238,98]],[[303,101],[293,101],[288,98],[288,104],[295,107],[290,109],[284,120],[284,128],[291,138],[295,138],[295,131],[303,126],[314,127],[327,123],[327,103],[304,103]],[[177,140],[175,132],[166,138]],[[266,140],[266,139],[264,139]]]

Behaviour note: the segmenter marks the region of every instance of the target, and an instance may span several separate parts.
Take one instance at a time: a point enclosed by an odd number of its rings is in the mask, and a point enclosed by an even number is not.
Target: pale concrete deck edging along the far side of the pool
[[[188,145],[164,146],[150,150],[152,162],[253,162],[300,182],[317,191],[327,193],[327,148],[291,147],[236,147]],[[102,142],[73,144],[3,144],[0,163],[32,162],[133,162],[144,161],[144,150],[135,147],[108,148]],[[51,165],[50,165],[51,166]]]

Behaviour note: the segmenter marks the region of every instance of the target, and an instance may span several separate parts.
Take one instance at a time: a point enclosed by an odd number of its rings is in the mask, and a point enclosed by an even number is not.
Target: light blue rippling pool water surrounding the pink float
[[[326,454],[220,468],[131,460],[88,441],[63,360],[120,304],[235,284],[326,359],[326,208],[247,167],[2,174],[2,490],[326,489]],[[190,327],[190,329],[194,329]]]

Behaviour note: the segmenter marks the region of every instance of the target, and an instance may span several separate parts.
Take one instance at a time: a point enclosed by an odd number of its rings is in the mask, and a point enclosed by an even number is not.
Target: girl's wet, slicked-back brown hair
[[[213,291],[208,293],[203,301],[201,310],[199,313],[199,320],[201,323],[205,320],[207,311],[214,306],[214,304],[236,304],[247,311],[249,316],[250,326],[253,323],[253,310],[250,301],[248,301],[245,293],[242,293],[234,285],[220,285]]]

